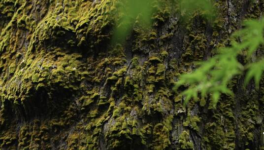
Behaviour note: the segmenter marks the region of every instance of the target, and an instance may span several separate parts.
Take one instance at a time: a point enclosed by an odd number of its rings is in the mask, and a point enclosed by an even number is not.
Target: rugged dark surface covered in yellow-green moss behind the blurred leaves
[[[157,1],[151,29],[112,45],[121,0],[0,0],[0,149],[263,150],[264,79],[234,78],[216,109],[173,90],[263,1],[217,0],[213,22]]]

